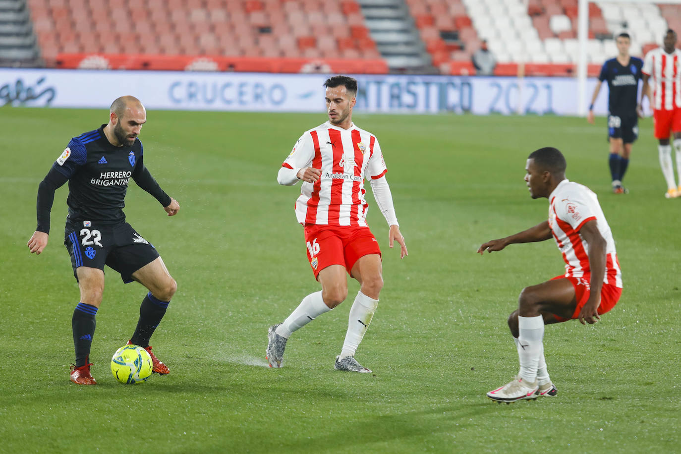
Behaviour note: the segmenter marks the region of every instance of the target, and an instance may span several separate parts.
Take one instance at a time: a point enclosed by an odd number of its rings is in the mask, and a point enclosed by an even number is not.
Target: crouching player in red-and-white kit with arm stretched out
[[[549,218],[515,235],[482,244],[477,252],[502,250],[509,244],[553,237],[565,260],[565,274],[525,287],[518,310],[508,323],[520,357],[518,376],[487,393],[497,402],[553,396],[558,390],[544,359],[544,325],[579,319],[596,323],[622,294],[622,273],[615,242],[598,198],[590,189],[565,178],[565,157],[556,148],[531,153],[525,181],[533,199],[549,199]]]

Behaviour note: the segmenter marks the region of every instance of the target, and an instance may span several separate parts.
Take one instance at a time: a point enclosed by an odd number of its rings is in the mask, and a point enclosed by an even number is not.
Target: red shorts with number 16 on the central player
[[[379,243],[369,227],[307,224],[305,242],[315,278],[329,265],[343,265],[352,276],[352,267],[360,257],[381,255]]]

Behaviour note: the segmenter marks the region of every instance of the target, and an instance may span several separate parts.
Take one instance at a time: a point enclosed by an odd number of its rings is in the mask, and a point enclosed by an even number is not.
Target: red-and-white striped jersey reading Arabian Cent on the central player
[[[366,227],[364,178],[381,178],[387,169],[376,136],[356,127],[326,122],[306,131],[283,167],[321,169],[314,184],[303,182],[296,201],[298,222]]]

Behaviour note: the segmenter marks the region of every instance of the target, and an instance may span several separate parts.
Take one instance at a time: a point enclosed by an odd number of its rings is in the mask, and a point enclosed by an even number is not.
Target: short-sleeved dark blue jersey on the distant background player
[[[609,95],[607,110],[611,115],[630,117],[636,115],[638,99],[638,82],[643,78],[641,71],[643,60],[635,56],[629,58],[629,64],[623,66],[617,59],[609,59],[603,63],[598,79],[607,80]]]

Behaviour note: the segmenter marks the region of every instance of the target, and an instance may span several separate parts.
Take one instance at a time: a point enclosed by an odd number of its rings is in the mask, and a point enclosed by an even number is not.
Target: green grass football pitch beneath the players
[[[26,242],[39,181],[70,137],[106,118],[0,109],[0,452],[680,452],[681,200],[663,197],[650,118],[622,196],[609,191],[603,118],[356,113],[381,142],[409,257],[387,247],[368,194],[385,287],[357,357],[374,372],[344,374],[332,365],[355,281],[349,302],[291,337],[283,369],[264,360],[268,326],[319,289],[293,212],[300,187],[279,186],[276,172],[323,113],[148,112],[144,161],[182,210],[168,218],[131,182],[125,212],[178,282],[152,338],[171,373],[133,386],[111,376],[146,290],[108,270],[91,352],[99,384],[78,387],[66,187],[44,253]],[[548,201],[523,181],[541,146],[563,150],[568,178],[599,194],[624,293],[596,325],[547,327],[556,398],[500,405],[485,393],[518,371],[507,315],[563,261],[552,241],[475,250],[546,218]]]

